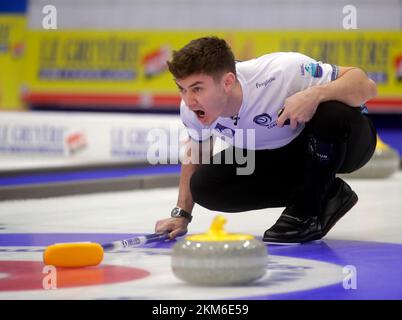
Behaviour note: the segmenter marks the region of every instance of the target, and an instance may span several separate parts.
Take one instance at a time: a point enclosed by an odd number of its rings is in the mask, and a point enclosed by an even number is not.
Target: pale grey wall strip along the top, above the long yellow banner
[[[59,9],[59,28],[335,29],[343,8],[357,8],[359,29],[400,29],[399,0],[31,0],[29,28],[42,28],[42,8]]]

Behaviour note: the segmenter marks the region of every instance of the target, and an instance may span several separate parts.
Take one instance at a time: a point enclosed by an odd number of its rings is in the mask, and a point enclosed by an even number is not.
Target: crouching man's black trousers
[[[193,174],[190,190],[196,203],[221,212],[284,207],[297,201],[311,204],[322,200],[336,173],[350,173],[366,164],[376,141],[374,125],[360,108],[328,101],[318,106],[289,144],[256,150],[252,174],[237,174],[244,164],[236,161],[225,164],[224,150],[215,155],[222,164],[211,159]]]

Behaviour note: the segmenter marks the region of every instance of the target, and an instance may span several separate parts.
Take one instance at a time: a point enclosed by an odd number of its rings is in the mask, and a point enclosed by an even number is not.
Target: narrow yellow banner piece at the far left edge
[[[0,15],[0,109],[22,108],[24,16]]]

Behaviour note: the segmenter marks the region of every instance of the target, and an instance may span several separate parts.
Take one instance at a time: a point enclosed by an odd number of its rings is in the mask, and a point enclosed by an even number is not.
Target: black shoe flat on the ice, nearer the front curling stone
[[[321,238],[322,230],[318,217],[299,218],[295,205],[288,206],[278,221],[264,233],[262,241],[271,243],[303,243]]]

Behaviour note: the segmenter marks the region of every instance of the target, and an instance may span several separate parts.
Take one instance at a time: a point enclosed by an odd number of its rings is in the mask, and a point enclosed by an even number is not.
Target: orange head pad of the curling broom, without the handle
[[[58,243],[46,248],[43,261],[55,267],[96,266],[103,260],[103,248],[98,243]]]

